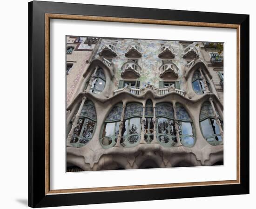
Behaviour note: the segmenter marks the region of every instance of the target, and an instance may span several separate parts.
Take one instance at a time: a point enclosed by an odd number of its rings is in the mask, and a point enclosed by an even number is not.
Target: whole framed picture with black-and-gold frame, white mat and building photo
[[[249,15],[28,17],[30,207],[249,194]]]

